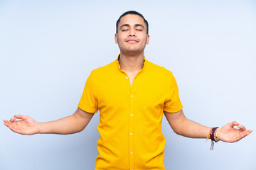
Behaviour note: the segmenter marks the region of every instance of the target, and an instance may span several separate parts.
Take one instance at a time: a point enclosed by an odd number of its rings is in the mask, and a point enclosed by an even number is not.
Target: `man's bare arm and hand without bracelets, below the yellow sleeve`
[[[22,135],[33,135],[36,133],[66,135],[84,130],[93,115],[94,113],[87,113],[78,108],[73,115],[47,123],[37,123],[28,115],[15,115],[10,121],[4,120],[4,125]]]

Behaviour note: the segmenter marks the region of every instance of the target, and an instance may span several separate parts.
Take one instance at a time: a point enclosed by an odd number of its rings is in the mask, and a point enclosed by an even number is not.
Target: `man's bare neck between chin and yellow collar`
[[[120,52],[119,64],[126,72],[137,72],[144,64],[144,52],[139,55],[127,55]]]

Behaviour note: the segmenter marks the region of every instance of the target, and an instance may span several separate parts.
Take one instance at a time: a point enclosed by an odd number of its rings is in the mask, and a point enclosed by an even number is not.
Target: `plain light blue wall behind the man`
[[[0,120],[73,114],[92,69],[116,59],[115,22],[149,21],[146,58],[176,77],[183,111],[203,125],[252,130],[256,1],[0,1]],[[0,169],[94,169],[99,113],[74,135],[23,136],[0,126]],[[181,137],[163,119],[168,169],[256,169],[256,137],[233,144]],[[120,144],[122,145],[122,144]]]

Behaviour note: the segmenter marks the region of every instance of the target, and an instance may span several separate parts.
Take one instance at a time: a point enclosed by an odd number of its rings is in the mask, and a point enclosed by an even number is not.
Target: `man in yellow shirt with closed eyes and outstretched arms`
[[[114,62],[91,72],[73,115],[48,123],[15,115],[4,124],[24,135],[70,134],[85,129],[99,110],[95,164],[96,169],[110,170],[164,169],[163,113],[174,132],[185,137],[237,142],[249,135],[252,130],[236,122],[208,128],[185,117],[173,74],[144,57],[148,31],[142,14],[128,11],[120,16],[115,34],[120,54]]]

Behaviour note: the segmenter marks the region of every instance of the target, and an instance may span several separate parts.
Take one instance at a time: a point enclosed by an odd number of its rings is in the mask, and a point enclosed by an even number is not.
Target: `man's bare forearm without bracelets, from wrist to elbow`
[[[82,131],[85,128],[85,125],[83,125],[75,115],[70,115],[59,120],[47,123],[38,123],[38,127],[40,130],[39,133],[67,135]]]

